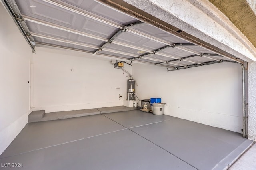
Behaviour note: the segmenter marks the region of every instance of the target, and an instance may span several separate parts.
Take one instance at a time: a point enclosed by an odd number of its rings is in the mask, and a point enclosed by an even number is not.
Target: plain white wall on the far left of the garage
[[[0,154],[28,122],[32,49],[0,4]]]

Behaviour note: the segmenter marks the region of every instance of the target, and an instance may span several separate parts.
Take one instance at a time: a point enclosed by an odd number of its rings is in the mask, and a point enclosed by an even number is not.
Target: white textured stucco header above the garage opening
[[[236,57],[256,61],[252,43],[208,0],[124,0]]]

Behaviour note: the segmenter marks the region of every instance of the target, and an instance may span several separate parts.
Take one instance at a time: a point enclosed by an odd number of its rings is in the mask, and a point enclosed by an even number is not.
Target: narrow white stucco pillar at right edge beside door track
[[[256,141],[256,62],[248,63],[248,139]]]

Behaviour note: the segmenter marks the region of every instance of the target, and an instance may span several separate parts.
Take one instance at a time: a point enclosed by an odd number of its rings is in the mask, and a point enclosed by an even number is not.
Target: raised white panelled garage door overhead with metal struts
[[[40,45],[61,47],[169,71],[239,62],[94,0],[2,1],[33,51]]]

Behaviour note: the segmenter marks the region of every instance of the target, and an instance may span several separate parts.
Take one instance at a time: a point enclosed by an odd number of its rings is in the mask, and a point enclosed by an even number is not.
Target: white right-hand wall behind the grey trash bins
[[[218,63],[167,72],[133,64],[140,99],[162,98],[164,113],[235,132],[242,129],[242,67]]]

